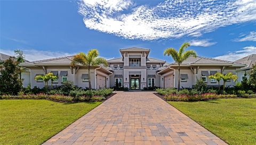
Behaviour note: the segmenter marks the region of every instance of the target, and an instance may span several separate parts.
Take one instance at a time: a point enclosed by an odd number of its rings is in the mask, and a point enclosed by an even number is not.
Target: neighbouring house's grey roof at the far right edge
[[[252,65],[256,64],[256,54],[248,55],[247,57],[244,57],[242,59],[238,59],[235,62],[243,63],[243,64],[246,65],[246,67],[241,68],[241,70],[251,69]]]

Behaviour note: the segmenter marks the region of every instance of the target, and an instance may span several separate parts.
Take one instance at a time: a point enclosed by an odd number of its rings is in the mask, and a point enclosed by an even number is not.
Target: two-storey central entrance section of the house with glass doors
[[[160,75],[157,70],[166,61],[149,57],[149,49],[131,47],[121,49],[121,58],[108,60],[109,67],[113,70],[110,76],[110,86],[124,86],[132,90],[144,87],[160,87]]]

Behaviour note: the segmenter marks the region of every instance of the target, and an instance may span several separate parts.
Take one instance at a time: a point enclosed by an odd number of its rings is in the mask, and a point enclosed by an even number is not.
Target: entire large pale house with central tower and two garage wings
[[[178,65],[166,63],[164,60],[149,57],[150,50],[131,47],[120,50],[121,57],[108,60],[109,67],[96,66],[91,68],[88,74],[83,65],[71,66],[73,56],[61,57],[33,62],[22,63],[21,66],[30,68],[30,84],[43,87],[42,80],[36,81],[36,75],[44,75],[53,72],[59,77],[54,85],[61,85],[67,80],[72,81],[78,87],[88,87],[90,75],[92,88],[114,87],[116,85],[127,87],[130,90],[141,90],[144,87],[177,87]],[[181,64],[180,87],[193,87],[197,79],[204,79],[207,85],[217,85],[216,80],[207,76],[216,72],[236,74],[236,69],[246,65],[237,62],[217,60],[203,57],[190,57]],[[221,82],[223,84],[223,82]],[[226,83],[235,85],[233,80]]]

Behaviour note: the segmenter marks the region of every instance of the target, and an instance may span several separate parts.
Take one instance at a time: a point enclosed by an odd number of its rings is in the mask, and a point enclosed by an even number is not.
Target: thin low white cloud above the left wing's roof
[[[22,50],[22,49],[21,49]],[[44,60],[44,59],[51,59],[51,58],[58,58],[58,57],[65,57],[74,55],[75,53],[67,53],[67,52],[58,52],[58,51],[41,51],[41,50],[34,50],[34,49],[24,49],[22,50],[25,54],[25,59],[28,61],[36,61],[36,60]],[[3,50],[0,49],[1,53],[14,56],[14,50]]]

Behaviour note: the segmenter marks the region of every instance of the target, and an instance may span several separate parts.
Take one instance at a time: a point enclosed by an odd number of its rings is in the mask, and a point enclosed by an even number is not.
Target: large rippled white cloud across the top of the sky
[[[201,36],[216,28],[256,20],[255,0],[169,0],[156,6],[131,0],[83,0],[78,12],[87,28],[129,39]]]

